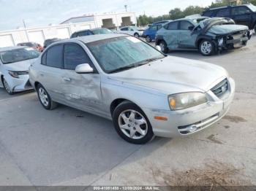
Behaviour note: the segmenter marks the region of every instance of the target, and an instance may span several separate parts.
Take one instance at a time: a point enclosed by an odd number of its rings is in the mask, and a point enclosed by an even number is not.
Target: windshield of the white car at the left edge
[[[33,48],[20,48],[0,52],[0,59],[2,63],[7,64],[34,59],[39,55],[40,52],[34,50]]]

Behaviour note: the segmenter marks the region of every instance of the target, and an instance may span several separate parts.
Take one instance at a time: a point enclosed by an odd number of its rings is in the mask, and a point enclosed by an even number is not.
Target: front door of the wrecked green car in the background
[[[181,20],[178,27],[178,48],[195,49],[195,39],[197,34],[192,34],[192,29],[195,26],[187,20]]]

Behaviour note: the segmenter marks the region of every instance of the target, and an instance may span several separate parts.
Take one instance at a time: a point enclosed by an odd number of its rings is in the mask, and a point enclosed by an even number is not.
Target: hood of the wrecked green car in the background
[[[248,30],[247,26],[241,25],[217,25],[212,26],[208,32],[213,34],[230,34],[236,31],[245,31]]]

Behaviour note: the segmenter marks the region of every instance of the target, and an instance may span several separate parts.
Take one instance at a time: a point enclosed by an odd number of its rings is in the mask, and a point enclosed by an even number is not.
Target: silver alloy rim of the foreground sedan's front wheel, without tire
[[[140,112],[127,109],[118,116],[118,125],[130,139],[142,139],[148,132],[148,123]]]

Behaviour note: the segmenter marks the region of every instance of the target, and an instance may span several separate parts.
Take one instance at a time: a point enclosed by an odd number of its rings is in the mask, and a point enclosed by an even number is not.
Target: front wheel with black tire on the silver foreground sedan
[[[146,114],[135,104],[124,101],[113,112],[113,124],[122,139],[132,144],[146,144],[154,133]]]

